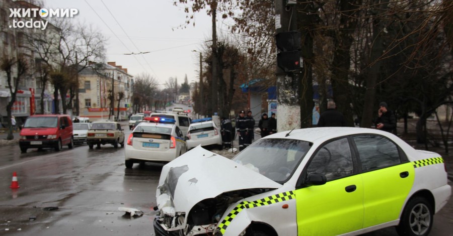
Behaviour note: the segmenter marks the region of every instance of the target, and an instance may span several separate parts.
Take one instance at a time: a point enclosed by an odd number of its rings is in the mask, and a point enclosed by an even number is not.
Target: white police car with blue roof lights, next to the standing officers
[[[198,145],[217,145],[222,147],[220,129],[212,121],[212,118],[193,120],[187,132],[187,148],[190,150]]]

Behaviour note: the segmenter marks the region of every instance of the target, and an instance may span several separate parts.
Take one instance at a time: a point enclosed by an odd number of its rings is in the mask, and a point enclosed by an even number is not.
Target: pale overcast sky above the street
[[[205,12],[195,15],[195,27],[177,29],[185,23],[186,14],[171,0],[102,1],[44,0],[44,7],[78,9],[73,20],[99,29],[108,38],[106,60],[127,68],[131,75],[147,72],[161,84],[169,77],[177,77],[181,84],[185,74],[189,83],[198,79],[199,54],[193,50],[211,39],[211,20]],[[150,53],[123,55],[131,52]]]

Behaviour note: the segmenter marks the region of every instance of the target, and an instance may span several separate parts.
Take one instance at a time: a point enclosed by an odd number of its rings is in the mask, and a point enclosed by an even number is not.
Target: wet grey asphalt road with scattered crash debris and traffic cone
[[[0,156],[0,235],[155,235],[153,207],[162,165],[126,169],[124,148],[112,145],[31,149],[27,154],[20,154],[18,146],[4,146]],[[13,172],[20,185],[15,190],[9,188]],[[130,218],[118,207],[145,214]],[[434,216],[430,235],[451,235],[451,228],[452,198]],[[397,234],[391,227],[364,235]]]

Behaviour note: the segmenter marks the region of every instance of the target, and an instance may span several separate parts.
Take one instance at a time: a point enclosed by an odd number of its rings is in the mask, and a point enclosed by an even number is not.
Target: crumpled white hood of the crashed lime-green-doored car
[[[198,146],[162,168],[156,191],[164,214],[188,213],[203,199],[240,189],[282,185],[228,158]]]

